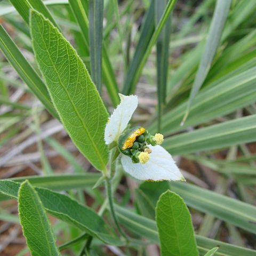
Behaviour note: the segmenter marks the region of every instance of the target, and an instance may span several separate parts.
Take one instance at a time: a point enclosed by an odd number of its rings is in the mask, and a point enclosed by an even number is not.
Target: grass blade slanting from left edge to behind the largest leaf
[[[7,34],[2,25],[0,25],[0,49],[6,59],[11,63],[17,71],[20,78],[28,85],[29,89],[43,103],[45,108],[56,118],[56,113],[51,99],[48,95],[46,87],[42,79],[37,75],[36,71],[31,67],[27,59],[18,49],[17,45],[12,41],[12,38]]]

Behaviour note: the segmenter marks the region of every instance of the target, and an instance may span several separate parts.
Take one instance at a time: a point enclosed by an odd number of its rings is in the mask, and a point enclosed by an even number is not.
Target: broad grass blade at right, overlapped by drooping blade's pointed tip
[[[256,59],[250,63],[256,65]],[[242,68],[242,67],[241,67]],[[227,115],[236,109],[249,106],[256,98],[256,68],[245,65],[246,70],[239,74],[238,69],[234,70],[234,76],[226,79],[220,78],[199,92],[190,108],[186,123],[181,127],[180,119],[186,111],[187,101],[178,107],[168,111],[162,117],[162,133],[171,133],[208,122],[214,118]],[[200,113],[200,115],[198,115]],[[149,126],[149,130],[157,132],[157,122]]]

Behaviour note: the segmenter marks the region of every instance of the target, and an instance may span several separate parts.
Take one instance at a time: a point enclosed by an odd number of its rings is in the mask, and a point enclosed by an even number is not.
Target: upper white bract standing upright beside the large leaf
[[[107,145],[118,140],[138,106],[136,95],[125,96],[119,93],[119,97],[121,102],[113,111],[105,128],[105,142]]]

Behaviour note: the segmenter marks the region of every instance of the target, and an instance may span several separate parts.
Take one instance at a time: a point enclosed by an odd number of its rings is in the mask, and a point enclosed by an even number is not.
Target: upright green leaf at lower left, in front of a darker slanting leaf
[[[43,204],[28,181],[20,186],[18,202],[20,222],[31,255],[60,255]]]

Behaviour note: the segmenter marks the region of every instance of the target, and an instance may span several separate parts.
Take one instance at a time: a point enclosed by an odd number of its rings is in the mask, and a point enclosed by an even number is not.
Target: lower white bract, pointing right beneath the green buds
[[[161,146],[149,146],[152,150],[145,164],[133,164],[129,156],[122,154],[121,163],[125,172],[138,180],[185,180],[172,156]]]

